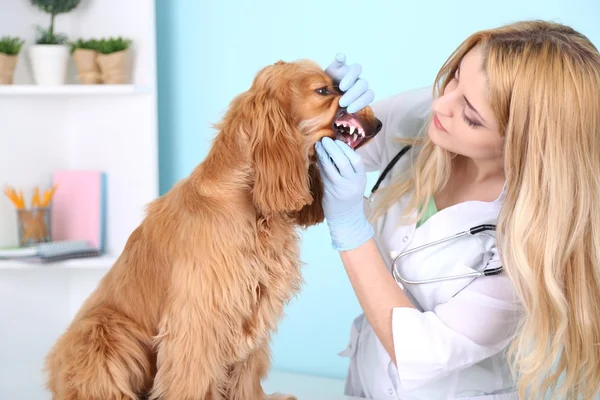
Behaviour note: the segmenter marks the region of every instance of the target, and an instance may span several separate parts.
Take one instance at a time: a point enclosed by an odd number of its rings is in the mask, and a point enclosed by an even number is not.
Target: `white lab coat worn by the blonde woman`
[[[431,88],[401,93],[375,103],[381,132],[359,149],[367,171],[381,171],[404,146],[395,139],[416,135],[431,109]],[[417,148],[390,171],[379,190],[404,171]],[[479,224],[496,224],[504,191],[493,202],[469,201],[441,210],[421,227],[400,225],[408,198],[374,223],[375,241],[389,266],[406,249]],[[490,235],[468,236],[420,250],[397,262],[407,279],[427,279],[499,266]],[[368,267],[368,266],[365,266]],[[506,276],[464,278],[403,285],[417,309],[392,312],[397,367],[361,314],[351,326],[346,394],[370,399],[518,399],[503,351],[513,338],[519,313]]]

